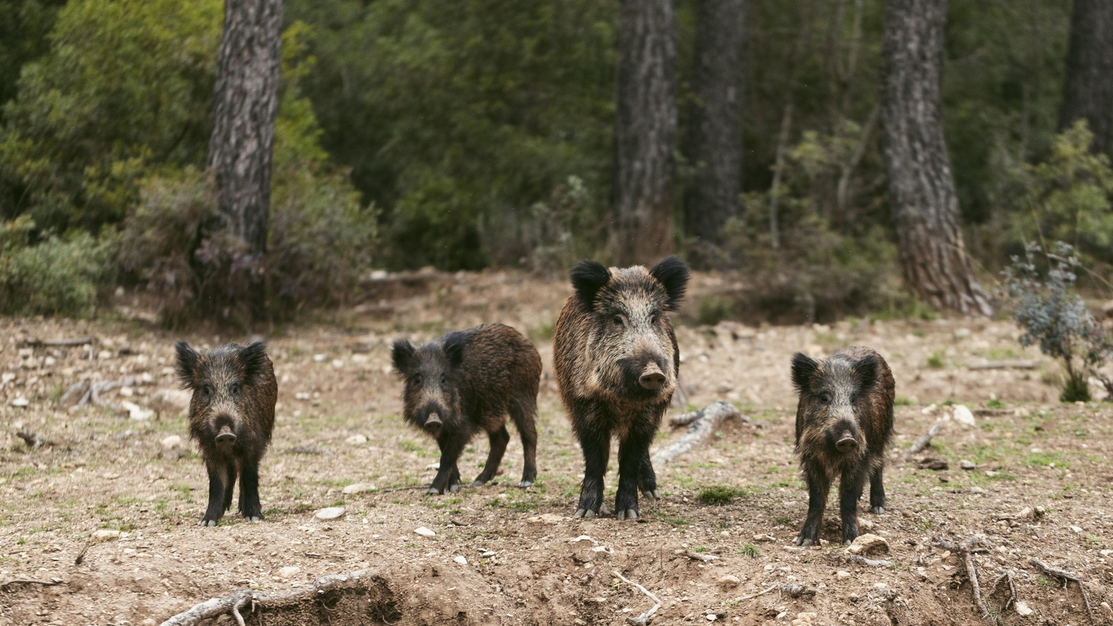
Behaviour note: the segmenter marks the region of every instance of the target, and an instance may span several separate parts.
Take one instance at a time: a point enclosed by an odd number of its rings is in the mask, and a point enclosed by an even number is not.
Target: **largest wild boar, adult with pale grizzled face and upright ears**
[[[638,517],[638,490],[659,498],[649,459],[661,417],[677,387],[680,351],[669,320],[688,284],[688,266],[670,256],[652,270],[572,267],[575,294],[553,330],[561,400],[583,450],[577,517],[595,517],[611,436],[619,438],[619,519]]]

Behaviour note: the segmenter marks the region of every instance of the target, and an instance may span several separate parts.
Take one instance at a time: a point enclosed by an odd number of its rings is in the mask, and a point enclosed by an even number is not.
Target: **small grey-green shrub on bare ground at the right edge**
[[[1113,358],[1113,344],[1082,297],[1073,293],[1080,262],[1074,247],[1055,242],[1051,252],[1030,243],[1024,256],[1014,256],[1005,270],[1005,284],[1016,307],[1013,319],[1024,329],[1021,345],[1040,344],[1040,351],[1063,362],[1066,380],[1063,402],[1090,400],[1090,374],[1113,394],[1113,381],[1097,369]]]

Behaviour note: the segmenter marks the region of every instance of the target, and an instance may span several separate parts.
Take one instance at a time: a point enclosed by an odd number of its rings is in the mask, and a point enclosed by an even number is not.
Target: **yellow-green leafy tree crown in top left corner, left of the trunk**
[[[138,180],[199,165],[223,4],[71,0],[22,68],[0,133],[0,216],[40,228],[119,222]]]

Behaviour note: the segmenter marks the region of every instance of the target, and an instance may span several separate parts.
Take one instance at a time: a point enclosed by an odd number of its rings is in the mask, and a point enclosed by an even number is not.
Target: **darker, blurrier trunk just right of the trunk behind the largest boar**
[[[702,0],[697,20],[689,133],[696,173],[684,225],[699,244],[716,245],[722,225],[740,213],[746,0]]]

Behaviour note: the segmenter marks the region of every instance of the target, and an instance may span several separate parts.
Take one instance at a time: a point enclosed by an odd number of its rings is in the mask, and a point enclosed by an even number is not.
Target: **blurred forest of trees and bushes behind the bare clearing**
[[[991,313],[1032,239],[1109,276],[1113,2],[264,1],[265,250],[238,254],[207,226],[225,3],[0,0],[0,313],[122,285],[171,325],[278,320],[372,268],[669,252],[745,278],[706,321]],[[917,284],[937,252],[965,286]]]

